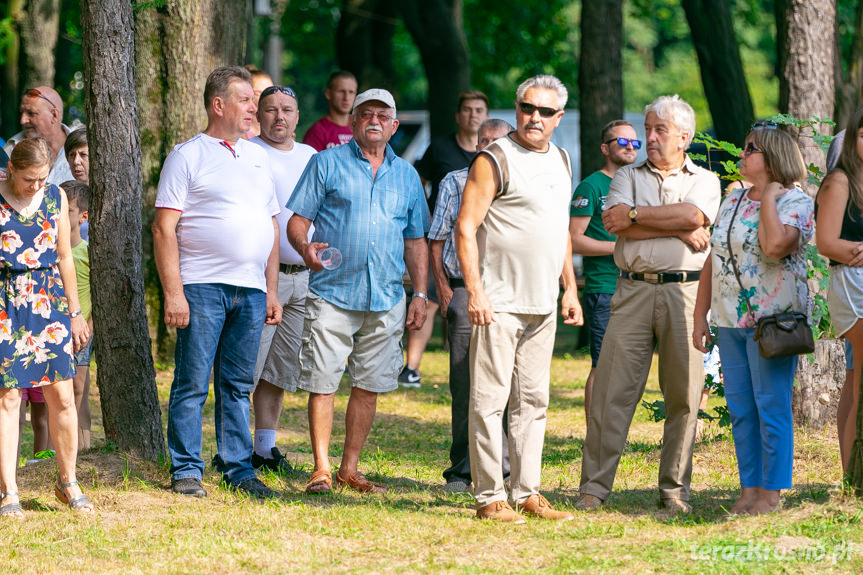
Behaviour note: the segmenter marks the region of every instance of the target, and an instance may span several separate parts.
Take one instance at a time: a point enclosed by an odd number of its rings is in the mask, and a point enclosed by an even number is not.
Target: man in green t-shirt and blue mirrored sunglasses
[[[614,265],[615,237],[602,225],[602,211],[611,179],[618,168],[635,161],[641,141],[635,128],[626,120],[612,120],[602,128],[599,149],[605,156],[605,166],[584,178],[572,195],[569,210],[569,233],[572,251],[584,256],[584,290],[582,305],[584,319],[590,326],[590,373],[584,385],[584,413],[590,414],[590,399],[599,350],[605,337],[611,296],[617,284],[617,266]]]

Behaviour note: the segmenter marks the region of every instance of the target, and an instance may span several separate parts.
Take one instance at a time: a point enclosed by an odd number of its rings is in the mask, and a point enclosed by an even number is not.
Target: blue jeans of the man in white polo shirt
[[[174,381],[168,401],[168,451],[174,479],[201,479],[201,419],[210,390],[216,398],[216,444],[233,485],[255,476],[249,393],[267,310],[267,296],[225,284],[183,286],[189,325],[177,330]]]

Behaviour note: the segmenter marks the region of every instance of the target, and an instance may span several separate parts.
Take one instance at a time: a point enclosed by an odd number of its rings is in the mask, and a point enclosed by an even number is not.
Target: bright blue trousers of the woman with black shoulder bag
[[[791,487],[791,388],[797,356],[764,359],[754,329],[719,328],[719,359],[741,487]]]

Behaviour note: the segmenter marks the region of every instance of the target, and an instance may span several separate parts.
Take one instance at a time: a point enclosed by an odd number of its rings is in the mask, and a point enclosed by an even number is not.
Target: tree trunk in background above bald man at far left
[[[54,87],[54,48],[60,0],[28,0],[21,18],[21,81],[25,88]]]

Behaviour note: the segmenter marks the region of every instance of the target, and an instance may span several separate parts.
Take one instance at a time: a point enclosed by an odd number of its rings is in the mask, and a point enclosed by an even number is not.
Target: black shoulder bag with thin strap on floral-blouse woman
[[[731,268],[734,270],[734,277],[740,285],[743,297],[746,298],[747,313],[751,316],[752,303],[749,301],[749,296],[746,293],[746,288],[743,287],[743,282],[740,281],[740,272],[737,271],[737,262],[734,258],[734,252],[731,251],[731,227],[737,219],[737,208],[742,203],[743,196],[741,195],[740,201],[734,206],[734,214],[731,216],[731,221],[728,222],[726,242],[728,244],[728,257],[731,260]],[[755,326],[755,336],[753,339],[758,342],[758,352],[765,359],[789,357],[815,351],[815,338],[812,336],[809,321],[806,318],[806,314],[799,312],[792,311],[762,317]]]

